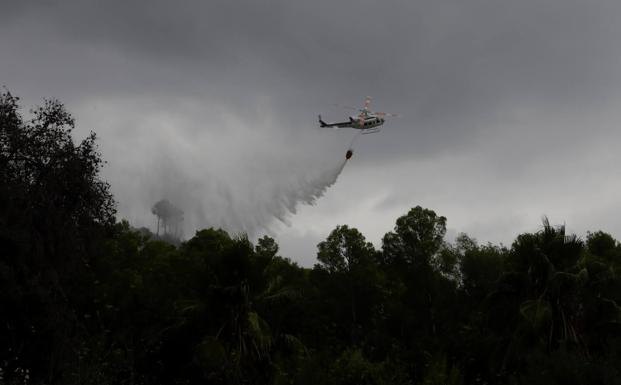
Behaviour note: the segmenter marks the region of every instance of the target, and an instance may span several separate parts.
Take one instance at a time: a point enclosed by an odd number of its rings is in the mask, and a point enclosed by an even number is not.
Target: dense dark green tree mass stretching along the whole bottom
[[[544,221],[510,248],[415,207],[376,250],[337,226],[302,268],[273,239],[178,247],[115,222],[95,136],[0,96],[0,383],[615,384],[621,246]]]

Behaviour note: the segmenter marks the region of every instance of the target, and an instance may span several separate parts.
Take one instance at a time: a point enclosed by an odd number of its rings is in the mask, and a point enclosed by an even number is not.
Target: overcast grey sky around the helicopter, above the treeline
[[[98,134],[135,226],[168,198],[187,236],[267,233],[303,265],[336,225],[379,246],[416,205],[481,242],[543,215],[621,238],[618,0],[1,2],[0,84]],[[304,204],[353,136],[317,114],[367,95],[402,116]]]

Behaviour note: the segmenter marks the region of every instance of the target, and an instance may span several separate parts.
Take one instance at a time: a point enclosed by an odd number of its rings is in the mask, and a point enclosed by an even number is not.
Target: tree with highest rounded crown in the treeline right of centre
[[[425,349],[441,349],[434,345],[448,341],[437,336],[453,332],[456,325],[454,309],[448,307],[455,303],[456,282],[445,276],[439,263],[445,233],[445,217],[416,206],[399,217],[394,230],[382,240],[381,264],[391,294],[386,301],[385,327],[409,352],[406,360],[413,365],[429,359]]]

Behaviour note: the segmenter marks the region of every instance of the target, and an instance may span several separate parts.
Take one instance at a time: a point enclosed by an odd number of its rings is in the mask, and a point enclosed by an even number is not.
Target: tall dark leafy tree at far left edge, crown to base
[[[55,382],[68,365],[77,308],[89,290],[89,256],[115,221],[103,160],[90,133],[74,144],[74,120],[46,100],[24,120],[0,93],[0,361]]]

